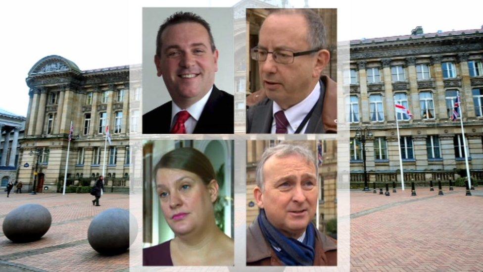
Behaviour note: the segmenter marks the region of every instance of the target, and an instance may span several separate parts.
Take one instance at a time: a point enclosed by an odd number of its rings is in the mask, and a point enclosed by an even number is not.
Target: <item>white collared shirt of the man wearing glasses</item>
[[[315,88],[312,92],[302,101],[293,105],[289,109],[284,110],[285,116],[289,121],[289,125],[287,126],[287,134],[293,134],[297,130],[298,126],[302,123],[303,119],[307,114],[309,114],[310,110],[314,107],[314,105],[319,101],[320,97],[320,83],[317,82]],[[283,110],[275,101],[273,102],[273,113],[279,110]],[[303,126],[300,133],[304,133],[305,129],[307,128],[309,122],[306,122]],[[271,133],[275,133],[276,126],[275,126],[275,117],[272,121],[272,131]]]

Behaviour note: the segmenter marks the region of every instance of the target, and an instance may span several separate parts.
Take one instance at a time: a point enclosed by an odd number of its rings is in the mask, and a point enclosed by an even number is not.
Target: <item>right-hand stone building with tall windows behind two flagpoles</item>
[[[447,180],[466,169],[460,119],[452,121],[459,93],[473,178],[483,170],[483,28],[350,41],[350,85],[346,117],[350,122],[351,182],[363,182],[363,150],[358,129],[368,128],[369,179],[392,181],[399,174],[401,146],[405,181]],[[402,104],[412,119],[397,113]]]

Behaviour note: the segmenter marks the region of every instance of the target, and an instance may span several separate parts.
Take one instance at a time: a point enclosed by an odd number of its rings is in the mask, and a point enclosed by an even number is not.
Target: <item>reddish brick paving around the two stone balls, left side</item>
[[[129,251],[102,256],[89,245],[87,230],[92,219],[109,208],[129,209],[129,195],[104,194],[100,207],[89,194],[0,194],[0,225],[16,207],[37,203],[48,209],[52,224],[42,239],[13,243],[0,232],[0,271],[120,271],[129,268]],[[139,222],[138,218],[138,222]],[[141,247],[141,232],[136,244]]]

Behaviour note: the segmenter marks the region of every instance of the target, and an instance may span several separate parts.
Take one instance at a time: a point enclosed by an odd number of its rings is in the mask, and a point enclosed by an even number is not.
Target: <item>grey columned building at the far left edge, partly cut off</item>
[[[18,141],[23,137],[25,117],[0,109],[0,188],[16,182]]]

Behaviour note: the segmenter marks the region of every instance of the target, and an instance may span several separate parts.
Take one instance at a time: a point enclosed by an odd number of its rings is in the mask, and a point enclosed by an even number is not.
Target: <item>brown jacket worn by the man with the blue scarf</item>
[[[314,266],[337,266],[337,240],[317,231]],[[285,266],[263,236],[255,219],[246,229],[247,266]]]

